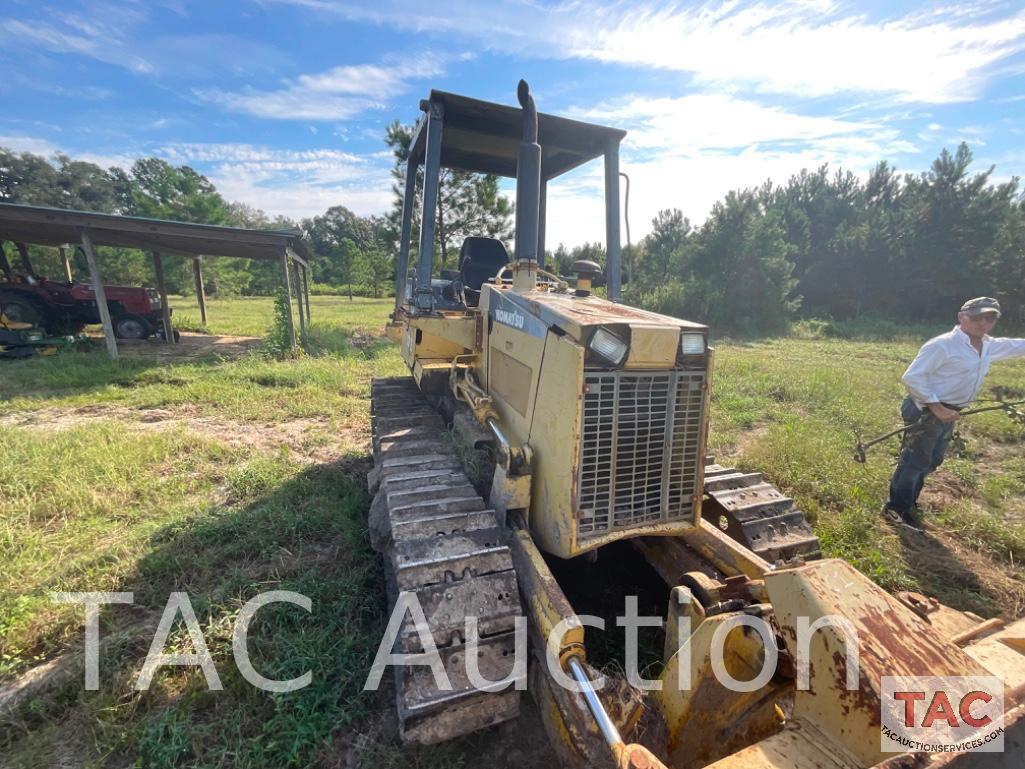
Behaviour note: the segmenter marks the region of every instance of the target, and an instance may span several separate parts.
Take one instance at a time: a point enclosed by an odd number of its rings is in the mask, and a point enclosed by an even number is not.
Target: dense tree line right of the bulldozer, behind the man
[[[966,298],[989,295],[1021,325],[1025,201],[1017,178],[994,184],[992,167],[971,165],[961,144],[919,174],[822,166],[731,192],[700,227],[660,211],[624,256],[624,298],[764,333],[797,317],[952,321]]]

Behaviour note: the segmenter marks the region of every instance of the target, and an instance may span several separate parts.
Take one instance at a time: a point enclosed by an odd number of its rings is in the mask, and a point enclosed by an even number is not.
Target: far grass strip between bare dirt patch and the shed
[[[368,383],[377,372],[401,373],[394,346],[379,338],[391,300],[339,296],[314,297],[311,350],[301,362],[252,354],[224,361],[217,357],[167,362],[124,356],[111,361],[101,351],[36,358],[7,366],[0,400],[7,411],[178,408],[240,421],[352,417],[366,413]],[[270,316],[265,297],[210,302],[215,312],[237,319],[253,332]],[[227,323],[227,320],[223,321]],[[263,329],[265,330],[265,328]],[[239,333],[239,329],[234,330]]]

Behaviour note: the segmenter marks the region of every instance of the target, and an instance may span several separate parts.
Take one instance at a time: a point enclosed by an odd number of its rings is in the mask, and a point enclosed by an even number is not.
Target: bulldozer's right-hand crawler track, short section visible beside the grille
[[[741,473],[706,460],[701,509],[711,523],[770,563],[821,557],[819,538],[793,499],[767,483],[761,473]],[[721,524],[722,525],[722,524]]]

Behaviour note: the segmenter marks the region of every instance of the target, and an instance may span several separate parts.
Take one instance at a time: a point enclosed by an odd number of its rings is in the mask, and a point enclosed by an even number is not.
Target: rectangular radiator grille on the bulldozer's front
[[[703,382],[703,371],[584,372],[581,536],[690,514]]]

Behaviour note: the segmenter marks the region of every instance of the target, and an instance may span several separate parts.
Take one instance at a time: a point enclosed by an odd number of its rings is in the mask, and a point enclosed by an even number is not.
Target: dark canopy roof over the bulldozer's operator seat
[[[492,102],[432,90],[430,103],[444,110],[442,166],[463,171],[516,176],[517,151],[523,139],[523,110]],[[421,103],[421,107],[426,107]],[[416,127],[410,160],[423,162],[426,121]],[[549,179],[588,160],[600,158],[626,135],[618,128],[537,114],[541,145],[541,177]]]

